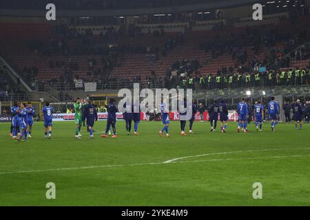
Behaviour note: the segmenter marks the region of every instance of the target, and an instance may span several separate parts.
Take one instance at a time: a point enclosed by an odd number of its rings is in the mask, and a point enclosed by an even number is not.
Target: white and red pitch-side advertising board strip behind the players
[[[141,120],[149,120],[150,114],[141,112]],[[219,117],[219,116],[218,116]],[[169,112],[169,119],[172,121],[178,121],[180,114],[178,112]],[[238,120],[238,114],[236,111],[228,111],[228,118],[230,121]],[[123,113],[116,113],[117,120],[123,120]],[[220,119],[220,118],[218,118]],[[53,114],[53,121],[73,121],[74,113],[59,113]],[[98,113],[98,120],[107,120],[107,113]],[[195,115],[195,120],[200,120],[200,113],[197,112]],[[203,120],[209,120],[209,114],[207,111],[203,113]]]

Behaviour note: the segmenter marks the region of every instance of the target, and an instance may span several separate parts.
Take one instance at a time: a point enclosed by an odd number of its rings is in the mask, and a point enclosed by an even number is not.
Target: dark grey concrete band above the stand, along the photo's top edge
[[[191,11],[200,11],[200,10],[216,10],[216,9],[224,9],[224,8],[234,8],[242,5],[251,5],[254,3],[264,2],[261,0],[192,0],[192,1],[183,1],[183,0],[174,0],[174,1],[165,1],[165,0],[149,0],[147,2],[149,5],[145,6],[145,4],[139,5],[134,4],[134,0],[132,5],[126,8],[121,5],[123,0],[116,0],[116,5],[114,7],[106,7],[106,8],[70,8],[63,7],[63,3],[71,2],[71,0],[67,1],[37,1],[37,0],[28,0],[32,2],[31,4],[25,4],[28,1],[19,1],[21,3],[14,3],[12,1],[5,1],[0,5],[0,16],[21,16],[21,17],[42,17],[45,15],[45,5],[47,3],[54,3],[56,5],[57,16],[58,17],[100,17],[100,16],[134,16],[140,14],[169,14],[173,12],[191,12]],[[96,0],[94,0],[96,1]],[[36,4],[37,2],[37,4]],[[90,1],[91,2],[91,1]],[[141,2],[141,1],[137,1]],[[153,2],[153,3],[152,3]],[[167,2],[170,3],[167,5]],[[44,4],[46,3],[46,4]],[[119,5],[117,3],[120,3]],[[124,4],[126,5],[126,4]],[[125,8],[123,8],[125,7]]]

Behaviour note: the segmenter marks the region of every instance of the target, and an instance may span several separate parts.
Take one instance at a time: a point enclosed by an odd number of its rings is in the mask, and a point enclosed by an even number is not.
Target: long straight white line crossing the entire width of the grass
[[[302,148],[309,149],[309,148]],[[244,152],[244,151],[242,151]],[[245,158],[225,158],[225,159],[205,159],[205,160],[189,160],[181,162],[170,162],[169,164],[183,164],[183,163],[198,163],[198,162],[217,162],[217,161],[229,161],[229,160],[242,160],[242,159],[278,159],[285,157],[310,157],[310,155],[289,155],[289,156],[273,156],[273,157],[245,157]],[[19,174],[19,173],[39,173],[39,172],[49,172],[49,171],[59,171],[59,170],[83,170],[90,168],[113,168],[121,166],[145,166],[145,165],[165,165],[165,162],[154,162],[154,163],[141,163],[141,164],[116,164],[116,165],[101,165],[101,166],[79,166],[79,167],[68,167],[68,168],[54,168],[46,170],[21,170],[12,172],[2,172],[0,175],[6,174]]]

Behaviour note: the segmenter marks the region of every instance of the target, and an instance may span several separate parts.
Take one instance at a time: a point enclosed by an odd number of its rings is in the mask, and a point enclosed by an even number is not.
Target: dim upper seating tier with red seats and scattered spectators
[[[270,33],[275,36],[309,31],[309,16],[288,19],[277,25],[259,25],[235,28],[234,25],[216,23],[211,30],[197,30],[195,26],[169,27],[143,32],[137,26],[129,33],[107,27],[104,31],[78,31],[50,23],[0,23],[1,54],[19,74],[28,77],[27,69],[34,67],[34,80],[97,80],[98,78],[145,79],[166,76],[167,69],[174,71],[176,61],[198,61],[201,76],[217,74],[219,68],[236,68],[250,61],[263,61],[271,50],[282,50],[287,38],[277,38],[272,46],[265,45]],[[176,30],[176,27],[173,30]],[[152,31],[154,31],[152,30]],[[307,39],[309,40],[309,39]],[[230,43],[229,43],[230,42]],[[259,43],[258,43],[259,42]],[[232,45],[231,45],[232,44]],[[236,44],[236,45],[235,45]],[[247,54],[240,61],[238,53]],[[236,53],[234,55],[234,53]],[[293,61],[291,67],[305,66],[309,61]]]

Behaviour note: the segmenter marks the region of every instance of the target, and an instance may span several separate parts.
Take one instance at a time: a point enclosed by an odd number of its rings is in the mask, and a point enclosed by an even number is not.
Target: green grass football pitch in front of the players
[[[183,137],[172,122],[168,138],[158,136],[161,127],[141,122],[140,135],[127,136],[119,121],[112,139],[100,137],[101,121],[94,139],[83,127],[76,140],[74,122],[54,122],[45,140],[37,122],[32,138],[17,142],[8,135],[10,124],[1,123],[0,205],[310,205],[309,124],[302,131],[278,124],[276,133],[269,123],[262,132],[249,124],[249,133],[237,133],[231,122],[227,133],[211,133],[209,122],[195,122],[195,133]],[[56,199],[45,197],[48,182],[56,184]],[[254,182],[262,184],[262,199],[252,197]]]

